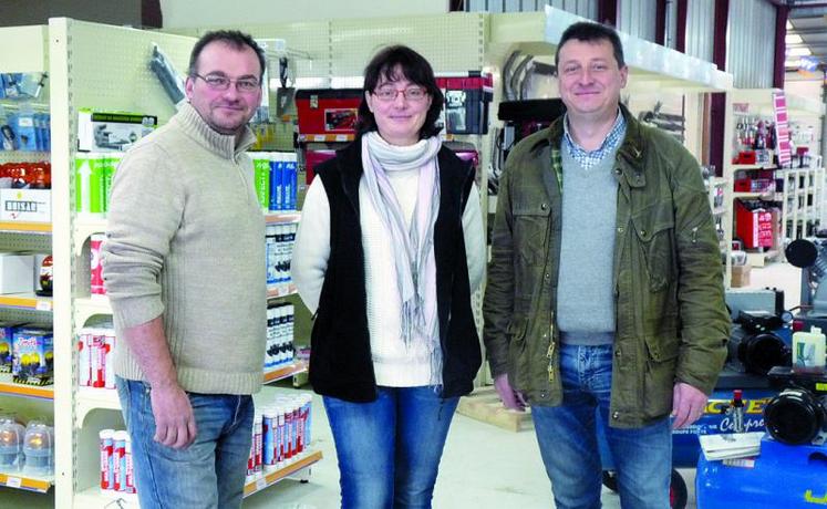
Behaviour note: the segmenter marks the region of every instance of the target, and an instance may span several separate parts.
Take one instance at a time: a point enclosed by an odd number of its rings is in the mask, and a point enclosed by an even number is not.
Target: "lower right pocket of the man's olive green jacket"
[[[675,336],[645,336],[647,360],[643,374],[643,414],[658,418],[672,412],[672,389],[678,366],[679,342]]]

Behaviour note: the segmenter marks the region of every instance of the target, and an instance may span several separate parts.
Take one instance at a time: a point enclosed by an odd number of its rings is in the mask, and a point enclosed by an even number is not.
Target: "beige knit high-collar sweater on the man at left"
[[[178,383],[207,394],[261,386],[265,220],[249,129],[213,131],[189,105],[131,149],[112,188],[103,269],[116,334],[163,315]],[[125,342],[115,373],[145,380]]]

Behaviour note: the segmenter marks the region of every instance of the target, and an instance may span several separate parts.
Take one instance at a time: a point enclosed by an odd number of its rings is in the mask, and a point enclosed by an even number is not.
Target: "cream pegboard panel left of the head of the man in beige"
[[[70,20],[70,114],[94,107],[153,114],[165,123],[175,106],[149,70],[153,43],[186,74],[193,38]]]

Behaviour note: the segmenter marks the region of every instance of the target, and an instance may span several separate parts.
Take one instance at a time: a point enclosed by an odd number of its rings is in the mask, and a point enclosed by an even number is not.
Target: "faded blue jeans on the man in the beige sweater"
[[[132,438],[143,509],[241,507],[252,433],[252,397],[187,393],[198,434],[184,449],[158,444],[147,384],[116,378]]]

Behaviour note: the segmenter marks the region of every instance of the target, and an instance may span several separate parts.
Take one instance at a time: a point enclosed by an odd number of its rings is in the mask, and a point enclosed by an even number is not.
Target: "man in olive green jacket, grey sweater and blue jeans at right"
[[[567,29],[557,69],[566,116],[500,179],[488,360],[505,405],[531,406],[558,508],[600,505],[596,415],[621,505],[666,508],[671,428],[703,414],[730,334],[709,198],[692,155],[619,104],[613,30]]]

